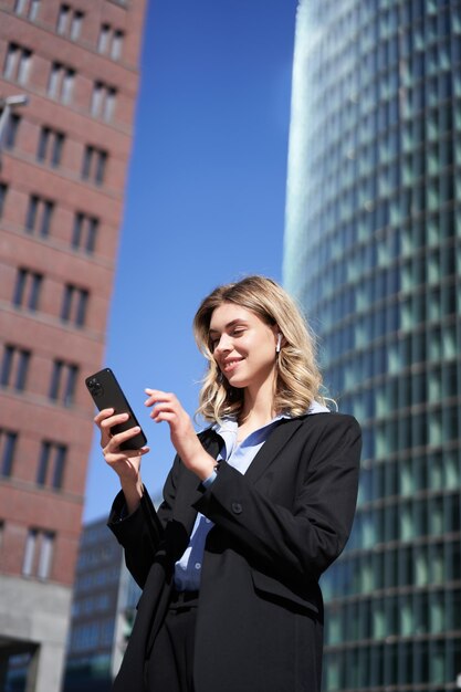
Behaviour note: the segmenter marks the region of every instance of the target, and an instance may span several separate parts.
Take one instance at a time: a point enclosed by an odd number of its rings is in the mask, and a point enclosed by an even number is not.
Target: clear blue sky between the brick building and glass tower
[[[143,479],[157,497],[174,458],[145,387],[193,415],[205,361],[191,322],[221,283],[282,280],[296,0],[150,0],[116,281],[102,365],[147,434]],[[95,436],[84,521],[118,480]]]

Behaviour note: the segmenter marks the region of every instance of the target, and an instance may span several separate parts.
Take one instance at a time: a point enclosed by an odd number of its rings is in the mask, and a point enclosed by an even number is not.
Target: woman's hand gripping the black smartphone
[[[125,422],[128,418],[128,413],[114,415],[114,409],[103,409],[97,413],[94,422],[101,430],[101,447],[103,448],[104,459],[118,475],[128,512],[132,513],[138,506],[143,496],[140,460],[149,451],[149,448],[121,449],[121,444],[134,438],[139,432],[139,428],[130,428],[117,434],[112,434],[111,429],[118,423]]]

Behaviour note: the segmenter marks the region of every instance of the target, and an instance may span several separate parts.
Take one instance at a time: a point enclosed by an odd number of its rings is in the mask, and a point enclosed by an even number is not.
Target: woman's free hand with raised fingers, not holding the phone
[[[169,424],[171,442],[184,464],[201,481],[208,479],[216,465],[216,461],[202,448],[193,429],[190,416],[184,410],[178,398],[159,389],[146,389],[148,399],[145,405],[154,407],[150,418],[160,423]]]

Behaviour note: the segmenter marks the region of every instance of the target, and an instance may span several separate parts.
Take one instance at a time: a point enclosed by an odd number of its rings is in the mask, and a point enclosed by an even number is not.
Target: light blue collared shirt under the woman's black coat
[[[307,413],[321,413],[328,412],[328,409],[321,403],[314,401]],[[218,461],[224,460],[240,471],[243,475],[254,457],[258,454],[270,432],[274,426],[282,420],[282,418],[291,418],[287,413],[281,413],[275,416],[269,423],[253,430],[242,442],[237,442],[238,436],[238,422],[233,418],[227,418],[222,424],[214,424],[213,430],[222,438],[223,444],[218,455]],[[208,479],[203,481],[205,486],[209,486],[216,479],[216,472],[213,472]],[[190,534],[189,545],[186,548],[182,557],[176,563],[175,566],[175,587],[178,591],[198,591],[200,588],[200,574],[203,562],[205,542],[207,539],[208,532],[213,526],[213,523],[198,513],[196,523]]]

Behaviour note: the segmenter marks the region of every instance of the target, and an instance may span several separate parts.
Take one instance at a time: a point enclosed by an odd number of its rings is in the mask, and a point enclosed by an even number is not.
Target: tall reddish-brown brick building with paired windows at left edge
[[[62,681],[145,1],[0,1],[0,689]]]

